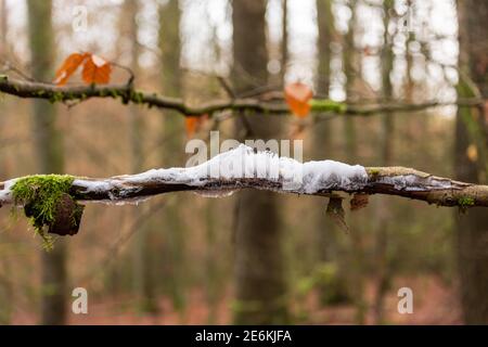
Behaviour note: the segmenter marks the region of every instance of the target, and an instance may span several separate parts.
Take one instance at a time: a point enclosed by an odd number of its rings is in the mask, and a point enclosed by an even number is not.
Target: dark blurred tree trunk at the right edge
[[[486,20],[488,2],[458,1],[460,17],[460,68],[476,85],[483,98],[488,98],[488,41]],[[473,97],[475,90],[461,78],[460,98]],[[460,180],[487,182],[485,110],[459,108],[455,126],[455,175]],[[468,156],[470,146],[477,149],[478,158]],[[472,151],[473,152],[473,151]],[[461,303],[467,324],[488,324],[488,218],[481,208],[471,208],[455,216],[458,229],[458,267]]]

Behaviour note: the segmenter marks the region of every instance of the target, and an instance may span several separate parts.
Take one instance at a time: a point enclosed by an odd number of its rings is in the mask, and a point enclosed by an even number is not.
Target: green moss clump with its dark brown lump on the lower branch
[[[73,181],[74,177],[67,175],[35,175],[18,179],[12,187],[15,204],[24,206],[26,217],[30,218],[48,249],[52,248],[48,233],[73,235],[78,232],[85,206],[69,195]]]

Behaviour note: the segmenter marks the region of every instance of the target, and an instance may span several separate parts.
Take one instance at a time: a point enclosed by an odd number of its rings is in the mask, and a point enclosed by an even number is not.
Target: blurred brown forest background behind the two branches
[[[336,101],[455,102],[473,90],[488,95],[487,18],[483,0],[0,0],[0,68],[52,81],[68,54],[89,51],[130,67],[138,88],[194,104],[228,98],[222,78],[239,95],[300,80]],[[115,70],[114,82],[126,79]],[[178,114],[108,100],[68,107],[0,97],[1,181],[108,177],[188,159]],[[303,139],[304,160],[486,182],[476,169],[486,152],[460,120],[484,118],[476,111],[305,123],[262,116],[247,126],[256,138]],[[208,120],[195,137],[208,140],[210,129],[221,140],[248,137],[232,115]],[[348,213],[347,234],[319,197],[178,193],[89,204],[79,234],[46,253],[25,219],[2,208],[0,322],[487,323],[488,254],[479,249],[487,219],[481,209],[460,215],[372,196]],[[79,286],[89,293],[88,314],[70,312]],[[413,314],[397,311],[403,286],[413,291]]]

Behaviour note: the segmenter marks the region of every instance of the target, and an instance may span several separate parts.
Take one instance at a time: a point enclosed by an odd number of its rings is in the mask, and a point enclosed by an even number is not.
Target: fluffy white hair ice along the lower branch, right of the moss
[[[293,158],[279,157],[272,152],[255,152],[244,144],[221,153],[193,167],[152,169],[138,175],[117,176],[103,181],[76,180],[75,184],[87,187],[87,192],[137,189],[144,183],[187,184],[204,187],[210,181],[235,179],[266,179],[280,183],[285,191],[312,194],[321,190],[359,190],[368,181],[364,167],[333,160],[299,163]],[[129,188],[127,188],[127,183]],[[239,187],[236,187],[239,188]],[[204,195],[211,196],[214,194]],[[224,192],[223,192],[224,193]],[[124,195],[124,194],[121,194]],[[221,194],[215,194],[221,195]]]

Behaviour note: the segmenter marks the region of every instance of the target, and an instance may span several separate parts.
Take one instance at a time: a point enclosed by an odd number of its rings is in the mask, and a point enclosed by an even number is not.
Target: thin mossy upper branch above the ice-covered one
[[[184,116],[211,115],[222,111],[236,112],[259,112],[265,114],[290,114],[290,108],[283,100],[265,101],[259,98],[244,98],[233,100],[220,100],[204,103],[201,105],[190,105],[182,99],[159,95],[134,90],[131,83],[127,85],[91,85],[91,86],[64,86],[12,79],[5,75],[0,75],[0,92],[18,98],[43,99],[51,102],[85,101],[92,98],[120,99],[125,104],[134,103],[149,107],[172,110]],[[310,102],[311,112],[332,112],[351,116],[370,116],[385,112],[418,112],[422,110],[457,105],[461,107],[474,107],[484,105],[481,99],[463,99],[454,102],[425,102],[425,103],[381,103],[381,104],[348,104],[334,102],[331,100],[314,99]]]

